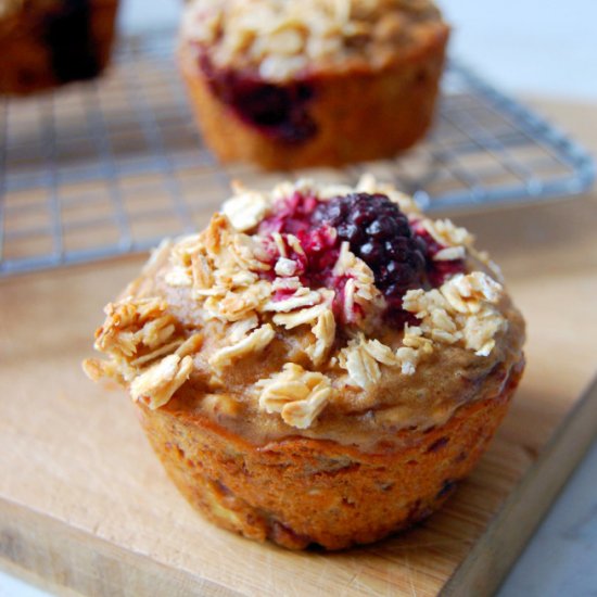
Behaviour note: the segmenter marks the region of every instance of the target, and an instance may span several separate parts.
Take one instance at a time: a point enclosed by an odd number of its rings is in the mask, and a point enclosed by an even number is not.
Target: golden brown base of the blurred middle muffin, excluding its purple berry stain
[[[193,51],[181,52],[182,73],[207,145],[223,162],[289,169],[388,157],[429,129],[444,65],[448,28],[429,45],[379,72],[318,75],[305,80],[315,97],[308,113],[317,134],[301,142],[276,140],[244,123],[211,91]]]

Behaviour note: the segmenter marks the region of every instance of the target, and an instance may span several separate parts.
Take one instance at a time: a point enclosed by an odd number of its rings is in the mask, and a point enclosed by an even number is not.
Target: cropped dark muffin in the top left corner
[[[117,0],[0,0],[0,93],[96,77],[107,64]]]

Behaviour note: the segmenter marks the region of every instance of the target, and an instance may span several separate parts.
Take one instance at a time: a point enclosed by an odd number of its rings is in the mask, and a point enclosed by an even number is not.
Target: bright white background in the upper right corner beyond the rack
[[[452,50],[513,93],[597,102],[597,0],[437,0]]]

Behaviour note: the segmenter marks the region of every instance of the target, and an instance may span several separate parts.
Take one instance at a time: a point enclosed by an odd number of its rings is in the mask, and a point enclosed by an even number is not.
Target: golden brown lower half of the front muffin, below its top
[[[499,395],[460,407],[431,430],[401,431],[404,448],[376,454],[298,436],[254,446],[170,405],[139,404],[139,412],[166,471],[207,519],[292,549],[343,549],[406,529],[445,501],[506,415],[522,367]]]

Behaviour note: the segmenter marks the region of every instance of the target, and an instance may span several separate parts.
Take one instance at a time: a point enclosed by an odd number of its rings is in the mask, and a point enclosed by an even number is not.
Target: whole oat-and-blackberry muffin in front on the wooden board
[[[289,548],[380,539],[474,466],[524,366],[497,267],[449,220],[357,188],[237,185],[107,305],[92,379],[129,389],[187,499]]]

